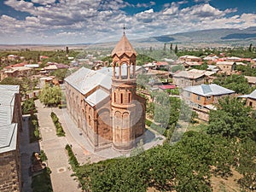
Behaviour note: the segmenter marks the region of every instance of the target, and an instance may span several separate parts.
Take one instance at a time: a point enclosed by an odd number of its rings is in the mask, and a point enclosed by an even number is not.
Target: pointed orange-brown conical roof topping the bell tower
[[[131,43],[125,36],[125,32],[123,34],[123,37],[119,40],[119,43],[115,45],[115,48],[112,51],[113,55],[121,56],[123,54],[131,56],[132,54],[137,55],[135,49],[131,46]]]

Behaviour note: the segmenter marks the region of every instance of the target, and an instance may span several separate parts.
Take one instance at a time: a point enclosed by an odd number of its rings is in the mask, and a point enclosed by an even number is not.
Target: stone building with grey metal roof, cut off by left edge
[[[20,86],[0,85],[0,191],[21,191]]]

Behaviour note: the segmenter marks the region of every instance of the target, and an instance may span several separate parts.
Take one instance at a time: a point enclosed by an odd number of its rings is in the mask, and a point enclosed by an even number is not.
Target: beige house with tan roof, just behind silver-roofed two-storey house
[[[205,83],[205,74],[203,73],[193,73],[190,71],[180,71],[172,76],[173,84],[178,87],[186,87],[197,84]]]

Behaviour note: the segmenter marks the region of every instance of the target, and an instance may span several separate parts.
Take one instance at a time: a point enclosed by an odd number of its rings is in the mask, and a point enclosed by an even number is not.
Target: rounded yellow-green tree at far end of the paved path
[[[59,86],[50,87],[45,84],[41,94],[39,95],[40,102],[46,106],[55,106],[61,103],[61,88]]]

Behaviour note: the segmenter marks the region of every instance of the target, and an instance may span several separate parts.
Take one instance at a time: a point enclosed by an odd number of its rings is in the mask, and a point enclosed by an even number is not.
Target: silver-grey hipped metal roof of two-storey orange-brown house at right
[[[185,87],[183,90],[200,96],[222,96],[235,93],[234,90],[226,89],[218,84],[201,84]]]

